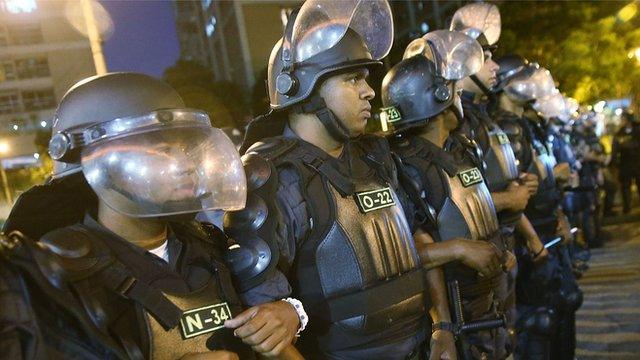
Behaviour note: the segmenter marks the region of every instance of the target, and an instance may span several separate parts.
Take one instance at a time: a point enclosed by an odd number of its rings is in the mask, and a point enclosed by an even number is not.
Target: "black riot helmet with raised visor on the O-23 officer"
[[[451,106],[461,119],[455,80],[475,73],[482,63],[480,44],[462,33],[438,30],[414,40],[405,59],[382,82],[385,120],[402,132],[426,124]]]

